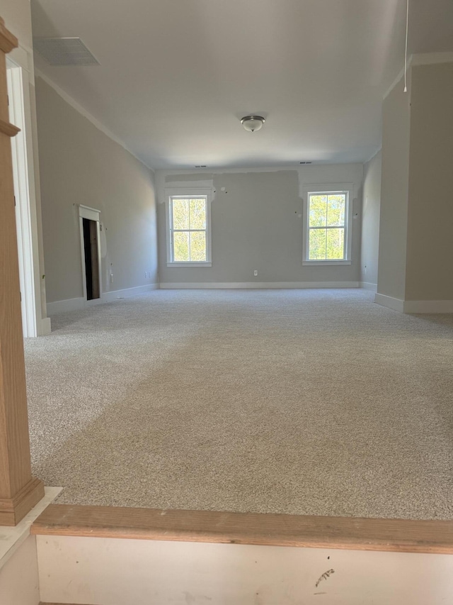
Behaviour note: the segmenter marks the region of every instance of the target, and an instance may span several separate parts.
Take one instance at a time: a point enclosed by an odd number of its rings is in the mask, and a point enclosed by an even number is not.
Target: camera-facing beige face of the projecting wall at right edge
[[[453,62],[412,69],[406,300],[453,300]]]

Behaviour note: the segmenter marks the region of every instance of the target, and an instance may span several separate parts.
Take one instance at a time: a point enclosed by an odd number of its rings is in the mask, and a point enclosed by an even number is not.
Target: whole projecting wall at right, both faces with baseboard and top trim
[[[384,100],[376,300],[408,313],[453,309],[453,62],[435,58]]]

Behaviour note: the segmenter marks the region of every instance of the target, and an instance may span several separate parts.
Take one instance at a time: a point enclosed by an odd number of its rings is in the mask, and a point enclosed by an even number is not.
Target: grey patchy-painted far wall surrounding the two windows
[[[352,262],[302,265],[302,195],[307,184],[353,183]],[[212,267],[167,267],[165,189],[212,187]],[[161,284],[357,282],[362,165],[294,170],[156,172]],[[254,276],[254,270],[258,276]]]

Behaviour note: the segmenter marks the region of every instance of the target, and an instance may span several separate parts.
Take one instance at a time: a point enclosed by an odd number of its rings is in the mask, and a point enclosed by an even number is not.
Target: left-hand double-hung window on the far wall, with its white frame
[[[210,267],[210,190],[168,194],[167,218],[167,265]]]

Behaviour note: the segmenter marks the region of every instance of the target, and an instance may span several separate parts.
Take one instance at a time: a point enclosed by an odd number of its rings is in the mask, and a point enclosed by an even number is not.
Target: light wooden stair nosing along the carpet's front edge
[[[453,521],[178,511],[52,504],[34,535],[453,553]]]

